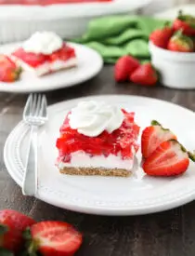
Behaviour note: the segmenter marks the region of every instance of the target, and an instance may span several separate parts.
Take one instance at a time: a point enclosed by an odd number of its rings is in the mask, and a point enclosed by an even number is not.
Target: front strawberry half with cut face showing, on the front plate
[[[184,173],[189,168],[191,155],[176,140],[163,143],[143,162],[142,168],[151,176],[175,176]]]

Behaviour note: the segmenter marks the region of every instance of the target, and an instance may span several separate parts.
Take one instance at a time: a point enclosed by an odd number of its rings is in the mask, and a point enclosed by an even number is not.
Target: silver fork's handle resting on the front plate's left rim
[[[23,195],[36,195],[37,192],[37,132],[38,127],[32,126],[29,153],[22,184]]]

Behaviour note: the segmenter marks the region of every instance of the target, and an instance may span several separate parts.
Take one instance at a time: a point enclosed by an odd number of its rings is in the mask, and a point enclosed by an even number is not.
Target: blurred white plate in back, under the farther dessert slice
[[[8,44],[0,47],[0,53],[9,54],[18,44]],[[23,72],[19,81],[14,83],[0,82],[0,91],[29,93],[33,91],[46,91],[58,88],[68,88],[82,83],[99,73],[103,66],[100,55],[89,47],[79,44],[69,44],[76,50],[78,66],[70,70],[36,77],[31,72]]]

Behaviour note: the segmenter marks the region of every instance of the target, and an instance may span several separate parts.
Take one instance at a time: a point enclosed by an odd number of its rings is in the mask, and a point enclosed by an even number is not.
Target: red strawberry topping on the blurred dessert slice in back
[[[63,44],[63,47],[53,52],[51,55],[25,52],[22,47],[18,48],[12,53],[12,55],[21,61],[24,61],[33,68],[36,68],[45,62],[68,61],[76,56],[74,48],[67,46],[65,43]]]

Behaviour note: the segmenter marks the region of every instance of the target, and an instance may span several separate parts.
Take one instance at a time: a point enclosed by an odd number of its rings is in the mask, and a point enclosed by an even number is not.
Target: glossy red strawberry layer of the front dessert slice
[[[133,150],[138,150],[136,143],[139,127],[134,121],[134,113],[124,114],[123,124],[112,133],[104,130],[97,137],[87,137],[72,129],[69,125],[69,114],[60,128],[60,138],[57,140],[59,151],[58,161],[70,162],[71,153],[84,151],[84,153],[94,155],[121,155],[123,159],[132,159]]]

